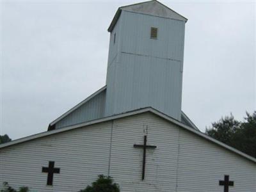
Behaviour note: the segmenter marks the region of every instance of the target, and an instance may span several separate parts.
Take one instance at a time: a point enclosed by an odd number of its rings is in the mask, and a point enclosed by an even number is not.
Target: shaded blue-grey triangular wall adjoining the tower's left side
[[[105,113],[106,104],[106,90],[95,95],[88,102],[77,108],[72,113],[65,116],[56,123],[56,129],[61,127],[67,127],[69,125],[80,124],[82,122],[88,122],[97,118],[102,118]]]

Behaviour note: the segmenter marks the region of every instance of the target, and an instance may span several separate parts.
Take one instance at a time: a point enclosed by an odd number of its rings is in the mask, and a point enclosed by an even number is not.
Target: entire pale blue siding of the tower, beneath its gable
[[[125,11],[118,22],[111,33],[118,46],[113,40],[109,46],[106,116],[150,106],[180,120],[185,22]],[[158,28],[157,40],[150,39],[151,27]]]

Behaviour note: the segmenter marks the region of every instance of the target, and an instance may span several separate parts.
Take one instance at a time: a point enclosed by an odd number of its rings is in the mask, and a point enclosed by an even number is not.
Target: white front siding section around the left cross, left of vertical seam
[[[97,175],[108,175],[111,122],[53,134],[0,150],[0,189],[4,181],[13,188],[35,191],[79,191]],[[42,166],[60,168],[53,186],[47,186]]]

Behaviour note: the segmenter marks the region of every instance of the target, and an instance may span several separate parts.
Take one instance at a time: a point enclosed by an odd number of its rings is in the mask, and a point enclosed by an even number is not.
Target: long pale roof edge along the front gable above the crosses
[[[182,129],[185,129],[189,132],[192,132],[193,134],[196,134],[197,136],[200,136],[200,137],[204,138],[207,141],[215,143],[216,145],[218,145],[220,147],[223,147],[227,150],[230,150],[231,152],[234,152],[235,154],[237,154],[241,157],[244,157],[245,159],[248,159],[248,160],[252,161],[253,163],[256,163],[256,159],[254,157],[248,156],[247,154],[244,154],[243,152],[237,150],[236,148],[233,148],[233,147],[230,147],[230,146],[228,146],[224,143],[221,143],[220,141],[215,140],[215,139],[207,136],[203,132],[197,131],[197,130],[195,130],[195,129],[187,126],[187,125],[184,125],[181,122],[179,122],[178,120],[175,120],[174,118],[171,118],[170,116],[164,115],[164,113],[161,113],[160,111],[157,111],[156,109],[153,109],[153,108],[137,109],[137,110],[134,110],[134,111],[129,111],[127,113],[121,113],[121,114],[118,114],[118,115],[108,116],[108,117],[105,117],[105,118],[100,118],[98,120],[92,120],[90,122],[85,122],[85,123],[82,123],[82,124],[71,125],[69,127],[64,127],[62,129],[55,129],[55,130],[52,130],[52,131],[45,131],[45,132],[42,132],[42,133],[39,133],[39,134],[34,134],[34,135],[31,135],[31,136],[28,136],[28,137],[25,137],[25,138],[20,138],[19,140],[13,140],[13,141],[10,141],[8,143],[3,143],[3,144],[0,145],[0,150],[1,150],[1,148],[10,147],[12,145],[18,145],[18,144],[24,143],[26,141],[35,140],[37,138],[43,138],[45,136],[50,136],[52,134],[58,134],[60,132],[65,132],[65,131],[70,131],[70,130],[73,130],[73,129],[77,129],[79,127],[86,127],[88,125],[99,124],[101,122],[108,122],[109,120],[115,120],[115,119],[118,119],[118,118],[124,118],[125,116],[138,115],[138,114],[146,113],[146,112],[150,112],[150,113],[153,113],[154,115],[160,116],[164,120],[167,120],[168,122],[171,122],[175,125],[178,125]]]

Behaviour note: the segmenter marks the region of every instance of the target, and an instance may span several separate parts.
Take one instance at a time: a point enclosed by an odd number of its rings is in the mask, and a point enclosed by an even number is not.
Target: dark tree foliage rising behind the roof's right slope
[[[212,123],[205,133],[231,147],[256,157],[256,111],[246,113],[243,122],[234,119],[234,116],[225,116]]]

